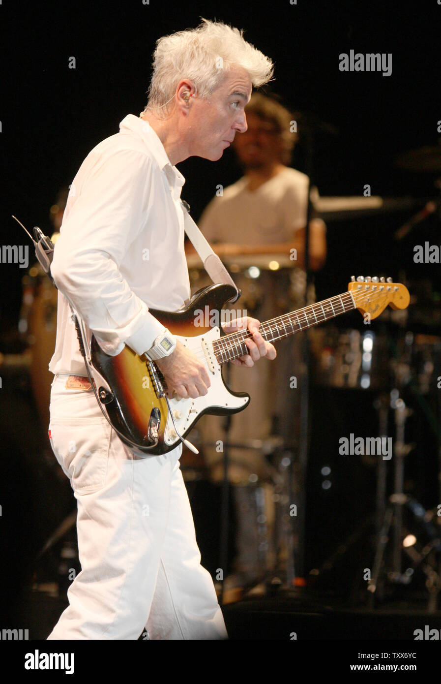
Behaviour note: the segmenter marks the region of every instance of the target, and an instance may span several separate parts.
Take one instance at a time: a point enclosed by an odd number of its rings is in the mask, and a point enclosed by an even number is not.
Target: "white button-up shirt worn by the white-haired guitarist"
[[[51,265],[59,289],[52,373],[87,375],[66,298],[111,356],[125,344],[137,354],[152,347],[164,326],[149,306],[175,311],[189,299],[184,183],[155,131],[133,114],[85,158]]]

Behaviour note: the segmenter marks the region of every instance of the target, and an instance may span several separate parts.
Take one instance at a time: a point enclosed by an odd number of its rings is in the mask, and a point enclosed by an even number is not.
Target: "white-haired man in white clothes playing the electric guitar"
[[[126,116],[81,164],[51,266],[59,295],[49,438],[78,503],[81,573],[49,639],[226,637],[213,580],[200,565],[181,446],[146,456],[116,436],[86,377],[69,302],[107,354],[128,345],[155,358],[169,396],[207,393],[205,366],[148,311],[174,311],[190,296],[185,179],[175,165],[222,157],[246,130],[252,86],[269,81],[273,67],[242,31],[205,19],[159,39],[153,67],[141,116]],[[259,321],[241,324],[252,339],[237,365],[276,357]]]

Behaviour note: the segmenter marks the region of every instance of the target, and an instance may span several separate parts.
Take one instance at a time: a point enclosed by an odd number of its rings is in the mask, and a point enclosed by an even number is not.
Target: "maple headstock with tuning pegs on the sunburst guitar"
[[[407,287],[399,282],[392,282],[392,278],[371,278],[371,276],[354,276],[347,286],[351,292],[356,307],[360,313],[369,313],[376,318],[390,304],[392,308],[407,308],[410,294]]]

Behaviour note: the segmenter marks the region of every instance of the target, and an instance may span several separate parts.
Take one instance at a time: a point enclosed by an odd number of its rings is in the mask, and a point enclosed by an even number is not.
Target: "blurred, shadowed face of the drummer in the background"
[[[235,152],[245,168],[262,168],[280,161],[281,139],[271,121],[247,114],[248,129],[235,140]]]

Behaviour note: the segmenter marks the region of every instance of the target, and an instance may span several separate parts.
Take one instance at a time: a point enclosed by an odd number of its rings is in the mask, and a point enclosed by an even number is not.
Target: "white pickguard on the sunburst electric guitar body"
[[[238,409],[247,406],[250,402],[249,397],[236,397],[231,394],[222,380],[221,366],[213,354],[213,341],[220,337],[219,328],[211,328],[209,332],[204,332],[204,334],[196,337],[181,337],[180,335],[175,335],[175,337],[193,354],[196,354],[200,360],[204,360],[211,380],[211,386],[205,397],[180,399],[179,401],[176,399],[169,400],[174,423],[179,434],[183,435],[193,425],[198,415],[208,408]],[[165,443],[172,445],[179,441],[172,418],[169,415],[165,428]]]

